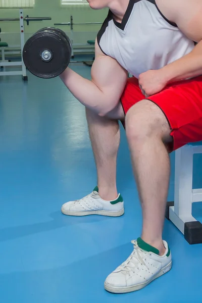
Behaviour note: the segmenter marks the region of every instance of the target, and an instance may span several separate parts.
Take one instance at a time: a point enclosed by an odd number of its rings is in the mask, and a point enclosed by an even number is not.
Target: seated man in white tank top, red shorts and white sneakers
[[[121,216],[116,187],[118,120],[124,121],[142,205],[141,237],[105,281],[115,293],[143,288],[171,269],[162,240],[169,152],[202,140],[202,1],[88,0],[109,8],[95,45],[92,80],[69,68],[61,79],[86,107],[97,186],[62,207],[66,215]],[[127,72],[134,75],[127,80]],[[120,102],[121,100],[121,102]]]

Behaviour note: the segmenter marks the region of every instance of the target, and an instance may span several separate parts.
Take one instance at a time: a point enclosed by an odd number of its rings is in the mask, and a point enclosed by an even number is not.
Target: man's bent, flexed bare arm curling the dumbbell
[[[91,81],[70,68],[67,68],[60,77],[81,104],[98,115],[105,116],[119,103],[126,84],[127,72],[115,59],[104,55],[96,41]]]

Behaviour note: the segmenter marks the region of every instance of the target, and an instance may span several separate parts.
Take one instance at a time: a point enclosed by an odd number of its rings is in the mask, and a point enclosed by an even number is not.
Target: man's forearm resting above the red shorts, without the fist
[[[202,41],[191,53],[168,64],[160,71],[167,83],[202,75]]]

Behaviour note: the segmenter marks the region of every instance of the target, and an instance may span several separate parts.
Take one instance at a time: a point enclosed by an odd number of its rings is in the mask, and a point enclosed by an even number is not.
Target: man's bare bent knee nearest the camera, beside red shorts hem
[[[161,116],[163,113],[159,113],[154,107],[157,106],[143,100],[128,111],[125,124],[129,141],[142,141],[150,137],[163,138]]]

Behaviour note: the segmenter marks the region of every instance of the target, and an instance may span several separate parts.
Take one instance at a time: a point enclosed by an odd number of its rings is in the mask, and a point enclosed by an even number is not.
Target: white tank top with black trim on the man
[[[194,42],[160,12],[155,0],[130,0],[122,23],[111,11],[98,32],[102,52],[138,76],[190,53]]]

